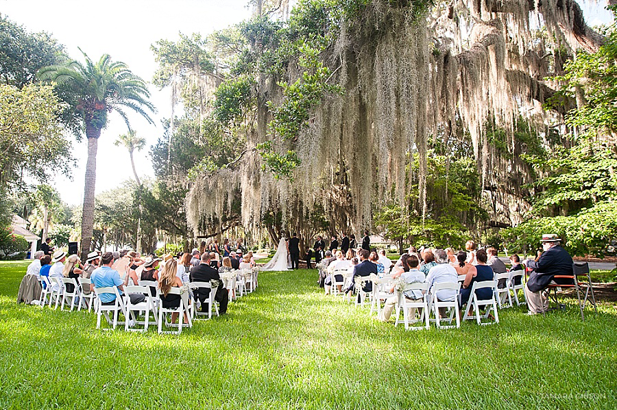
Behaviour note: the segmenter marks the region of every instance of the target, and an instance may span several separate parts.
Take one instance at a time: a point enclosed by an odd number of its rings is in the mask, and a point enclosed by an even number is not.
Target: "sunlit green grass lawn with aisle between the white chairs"
[[[1,409],[614,409],[617,312],[406,332],[332,300],[315,270],[262,272],[228,316],[176,335],[97,331],[16,305],[0,262]]]

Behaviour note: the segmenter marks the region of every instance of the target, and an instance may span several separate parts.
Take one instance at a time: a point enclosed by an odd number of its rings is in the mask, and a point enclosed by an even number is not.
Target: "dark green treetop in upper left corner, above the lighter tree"
[[[0,81],[22,88],[44,66],[58,64],[64,47],[45,32],[29,33],[0,14]]]

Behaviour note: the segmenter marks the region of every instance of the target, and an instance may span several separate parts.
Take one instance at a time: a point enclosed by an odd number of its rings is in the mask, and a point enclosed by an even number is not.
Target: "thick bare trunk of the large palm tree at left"
[[[101,129],[86,123],[88,137],[88,160],[84,181],[84,206],[82,207],[82,260],[86,260],[90,252],[92,231],[94,226],[94,196],[97,181],[97,149]]]

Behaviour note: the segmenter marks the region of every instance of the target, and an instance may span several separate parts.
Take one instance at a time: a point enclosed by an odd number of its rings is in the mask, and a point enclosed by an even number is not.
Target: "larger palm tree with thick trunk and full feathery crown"
[[[82,51],[80,49],[80,51]],[[108,112],[115,111],[130,124],[124,108],[130,108],[154,124],[146,110],[155,112],[149,102],[145,81],[134,75],[123,62],[114,62],[108,54],[93,62],[82,51],[86,64],[75,60],[63,65],[40,69],[40,79],[56,82],[58,94],[75,109],[86,129],[88,160],[82,208],[82,259],[90,252],[94,224],[95,183],[97,177],[97,147],[101,130],[108,123]]]

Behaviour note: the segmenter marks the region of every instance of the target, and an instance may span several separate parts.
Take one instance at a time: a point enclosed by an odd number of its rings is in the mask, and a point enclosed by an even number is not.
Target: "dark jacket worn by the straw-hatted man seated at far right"
[[[548,283],[551,283],[556,274],[572,275],[572,257],[560,245],[542,253],[540,259],[529,261],[528,268],[533,269],[527,281],[527,287],[531,292],[540,292],[546,289]],[[572,281],[556,280],[555,282],[566,285]]]

